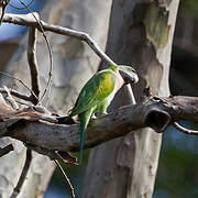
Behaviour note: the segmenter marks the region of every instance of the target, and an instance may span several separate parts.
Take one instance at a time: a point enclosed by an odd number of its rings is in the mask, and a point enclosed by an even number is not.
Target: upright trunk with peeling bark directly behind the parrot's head
[[[168,96],[173,34],[179,0],[114,0],[107,54],[118,64],[138,69],[138,102],[153,95]],[[102,68],[106,67],[103,64]],[[129,103],[120,91],[113,108]],[[111,108],[112,110],[112,108]],[[131,132],[90,152],[82,197],[152,197],[162,135],[151,129]]]

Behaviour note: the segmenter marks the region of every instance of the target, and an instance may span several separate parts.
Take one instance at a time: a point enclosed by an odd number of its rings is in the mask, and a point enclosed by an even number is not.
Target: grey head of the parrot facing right
[[[134,68],[125,65],[119,65],[119,72],[124,80],[124,84],[136,84],[139,81],[139,77]]]

